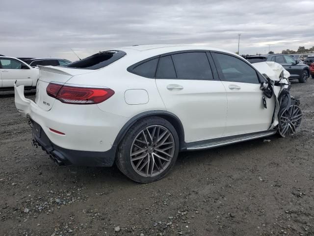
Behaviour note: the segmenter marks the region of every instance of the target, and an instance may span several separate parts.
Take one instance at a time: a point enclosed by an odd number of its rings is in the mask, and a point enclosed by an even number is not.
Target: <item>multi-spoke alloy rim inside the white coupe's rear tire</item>
[[[175,153],[175,141],[164,126],[143,128],[134,138],[130,150],[133,170],[143,177],[162,173],[171,163]]]

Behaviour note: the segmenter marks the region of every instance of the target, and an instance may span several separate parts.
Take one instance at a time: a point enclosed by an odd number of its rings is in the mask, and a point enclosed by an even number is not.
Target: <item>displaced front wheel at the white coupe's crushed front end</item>
[[[285,109],[279,118],[279,134],[282,137],[293,135],[299,129],[302,121],[302,112],[297,105]]]

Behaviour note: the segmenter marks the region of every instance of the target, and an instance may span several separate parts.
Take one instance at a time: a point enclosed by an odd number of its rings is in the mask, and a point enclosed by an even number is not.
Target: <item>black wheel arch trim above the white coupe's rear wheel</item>
[[[175,130],[178,133],[179,136],[179,149],[183,148],[183,143],[184,143],[184,129],[183,129],[183,125],[181,120],[174,115],[171,112],[167,112],[167,111],[148,111],[148,112],[143,112],[140,113],[134,117],[132,117],[119,131],[116,139],[114,140],[113,145],[119,146],[120,142],[122,141],[122,139],[124,138],[124,136],[126,135],[126,133],[128,132],[128,130],[131,128],[131,126],[137,122],[140,119],[143,118],[148,118],[148,117],[160,117],[160,118],[164,118],[167,121],[169,121],[173,127],[175,128]]]

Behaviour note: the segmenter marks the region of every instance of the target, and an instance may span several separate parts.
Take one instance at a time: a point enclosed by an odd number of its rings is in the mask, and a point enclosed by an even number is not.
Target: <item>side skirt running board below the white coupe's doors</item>
[[[253,139],[259,139],[267,136],[271,136],[277,133],[276,130],[267,130],[258,133],[250,133],[244,135],[235,135],[227,138],[218,138],[218,139],[211,139],[206,141],[199,141],[193,143],[185,143],[185,147],[183,150],[201,150],[201,149],[209,149],[209,148],[216,148],[221,147],[229,144],[236,144],[244,141],[249,141]]]

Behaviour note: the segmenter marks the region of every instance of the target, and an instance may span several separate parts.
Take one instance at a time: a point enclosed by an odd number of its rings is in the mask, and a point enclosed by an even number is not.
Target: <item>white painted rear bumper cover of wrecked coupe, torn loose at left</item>
[[[70,150],[109,151],[128,120],[106,113],[97,105],[72,105],[55,101],[53,107],[46,111],[25,98],[24,86],[15,87],[15,105],[22,116],[31,118],[41,126],[55,146]]]

